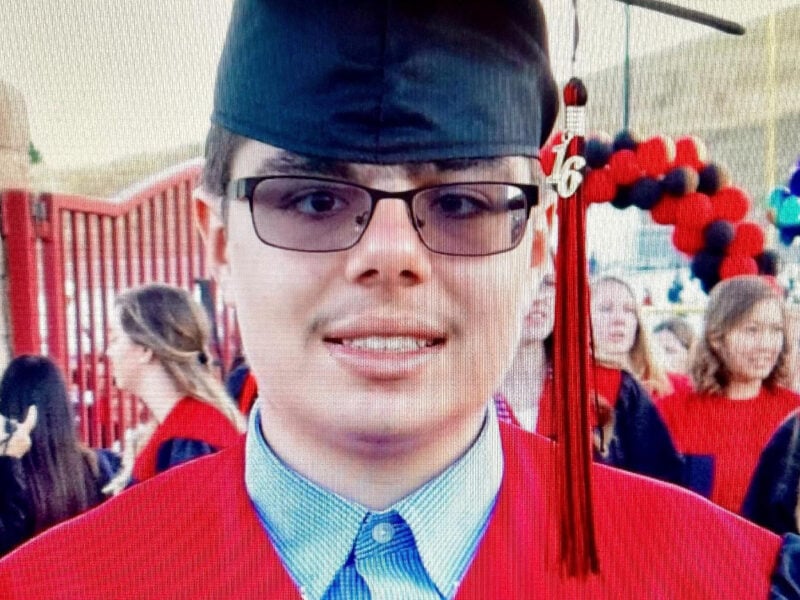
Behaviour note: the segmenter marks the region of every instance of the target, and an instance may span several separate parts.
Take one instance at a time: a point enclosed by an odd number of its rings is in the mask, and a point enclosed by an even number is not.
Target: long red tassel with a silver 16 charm
[[[563,162],[557,165],[560,168],[554,174],[560,196],[553,336],[553,399],[561,483],[560,558],[566,573],[577,577],[599,572],[592,514],[586,204],[580,185],[586,164],[583,158],[586,100],[583,82],[572,78],[564,88],[567,146],[561,154]]]

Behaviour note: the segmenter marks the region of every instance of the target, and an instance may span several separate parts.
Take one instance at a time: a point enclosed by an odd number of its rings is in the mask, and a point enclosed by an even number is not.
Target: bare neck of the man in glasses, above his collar
[[[462,427],[443,427],[427,437],[338,444],[319,432],[306,437],[282,427],[268,403],[261,410],[262,434],[279,459],[315,484],[373,511],[386,510],[443,473],[472,446],[486,418],[484,410]]]

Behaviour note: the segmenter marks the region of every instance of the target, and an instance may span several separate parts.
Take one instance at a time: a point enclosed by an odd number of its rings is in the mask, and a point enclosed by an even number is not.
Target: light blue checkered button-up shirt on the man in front
[[[261,434],[259,410],[248,428],[248,494],[307,600],[452,598],[486,530],[502,474],[493,408],[464,456],[380,512],[286,466]]]

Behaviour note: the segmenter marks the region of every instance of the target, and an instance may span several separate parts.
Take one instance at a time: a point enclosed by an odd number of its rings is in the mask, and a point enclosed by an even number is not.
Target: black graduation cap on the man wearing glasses
[[[237,0],[212,121],[349,162],[537,156],[558,111],[535,0]]]

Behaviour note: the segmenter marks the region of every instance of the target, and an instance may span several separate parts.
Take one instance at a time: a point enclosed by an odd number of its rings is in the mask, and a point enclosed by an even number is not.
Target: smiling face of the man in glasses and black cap
[[[349,165],[331,173],[283,155],[248,141],[234,156],[231,179],[302,173],[387,191],[532,181],[533,161],[521,157],[457,169]],[[536,208],[531,220],[538,220]],[[265,429],[374,449],[474,423],[510,363],[535,289],[532,231],[502,254],[434,254],[406,205],[389,198],[353,248],[299,252],[259,241],[247,202],[232,200],[219,260],[229,269]]]

